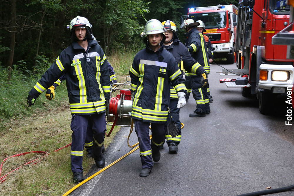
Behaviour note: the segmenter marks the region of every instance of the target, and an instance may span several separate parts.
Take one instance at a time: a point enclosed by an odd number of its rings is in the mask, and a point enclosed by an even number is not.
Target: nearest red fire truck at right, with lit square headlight
[[[270,111],[275,95],[284,95],[293,86],[293,59],[286,57],[287,46],[272,44],[272,37],[288,26],[289,13],[287,0],[239,0],[238,69],[231,72],[248,77],[248,84],[240,86],[242,95],[255,94],[262,114]]]

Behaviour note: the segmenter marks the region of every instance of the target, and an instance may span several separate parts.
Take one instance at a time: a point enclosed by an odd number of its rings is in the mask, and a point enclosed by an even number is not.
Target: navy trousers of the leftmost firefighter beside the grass
[[[76,115],[71,118],[71,171],[83,171],[83,150],[87,129],[93,132],[94,158],[102,155],[102,145],[106,132],[105,113],[93,115]]]

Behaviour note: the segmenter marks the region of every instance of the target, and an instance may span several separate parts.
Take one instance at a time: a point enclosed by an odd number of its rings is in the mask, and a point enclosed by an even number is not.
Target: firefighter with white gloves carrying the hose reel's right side
[[[165,138],[165,123],[168,118],[170,84],[174,86],[177,107],[186,104],[185,80],[178,63],[171,53],[163,49],[166,29],[160,21],[149,20],[141,36],[145,36],[146,48],[139,51],[130,68],[131,92],[133,94],[132,118],[140,146],[142,163],[141,177],[146,177],[153,168],[153,161],[160,159],[160,147]],[[151,123],[152,139],[149,138]],[[178,128],[169,135],[176,137]],[[152,155],[152,156],[151,156]],[[153,161],[152,161],[153,159]]]

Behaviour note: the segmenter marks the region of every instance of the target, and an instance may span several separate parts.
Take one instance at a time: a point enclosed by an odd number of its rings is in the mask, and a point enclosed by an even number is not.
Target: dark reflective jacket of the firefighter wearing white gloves
[[[143,122],[165,123],[168,117],[170,83],[176,92],[187,92],[185,80],[171,53],[161,47],[154,52],[146,44],[130,68],[134,93],[132,118]]]

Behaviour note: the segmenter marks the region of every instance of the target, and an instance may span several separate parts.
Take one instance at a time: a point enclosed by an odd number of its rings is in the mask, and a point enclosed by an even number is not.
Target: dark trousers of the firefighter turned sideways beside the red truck
[[[191,89],[193,98],[196,100],[196,110],[197,113],[210,112],[209,99],[207,95],[206,86],[202,87],[201,77],[193,76],[191,77]]]

